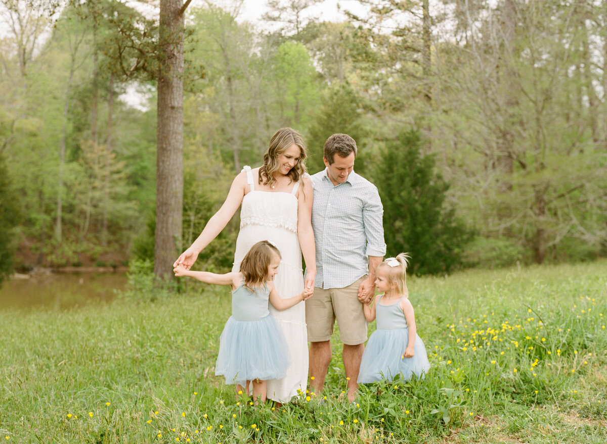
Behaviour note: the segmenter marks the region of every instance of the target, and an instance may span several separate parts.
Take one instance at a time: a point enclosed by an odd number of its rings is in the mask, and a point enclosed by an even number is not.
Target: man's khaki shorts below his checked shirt
[[[308,341],[328,341],[337,319],[339,337],[345,345],[358,345],[367,340],[367,320],[358,300],[358,288],[367,276],[345,288],[314,288],[314,294],[305,301],[305,321]]]

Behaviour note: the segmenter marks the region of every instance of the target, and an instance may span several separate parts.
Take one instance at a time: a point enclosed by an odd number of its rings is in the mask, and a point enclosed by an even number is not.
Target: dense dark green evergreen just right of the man
[[[419,131],[389,141],[378,162],[375,184],[384,204],[388,255],[409,252],[413,274],[447,273],[462,262],[470,230],[447,206],[449,184],[422,155]]]

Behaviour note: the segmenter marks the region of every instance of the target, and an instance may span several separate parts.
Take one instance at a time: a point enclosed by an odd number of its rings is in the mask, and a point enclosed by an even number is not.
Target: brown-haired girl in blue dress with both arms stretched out
[[[287,343],[268,311],[268,300],[277,310],[286,310],[312,295],[311,290],[281,299],[274,288],[280,252],[268,241],[251,247],[240,263],[240,272],[215,274],[188,271],[178,264],[175,276],[189,276],[208,284],[232,288],[232,315],[219,338],[215,374],[223,375],[226,384],[253,381],[253,398],[266,400],[266,380],[282,378],[287,372]]]

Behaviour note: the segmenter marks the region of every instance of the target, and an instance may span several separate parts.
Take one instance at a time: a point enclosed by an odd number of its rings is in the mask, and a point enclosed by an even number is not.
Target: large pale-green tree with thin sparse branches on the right
[[[504,0],[476,15],[465,47],[437,52],[433,146],[460,208],[536,263],[562,241],[597,252],[605,239],[605,133],[588,116],[604,107],[586,14],[576,2]]]

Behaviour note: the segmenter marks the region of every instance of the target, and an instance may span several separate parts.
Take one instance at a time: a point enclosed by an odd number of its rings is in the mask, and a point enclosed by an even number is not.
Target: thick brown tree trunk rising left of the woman
[[[183,217],[183,12],[160,0],[160,69],[154,274],[166,278],[181,247]]]

